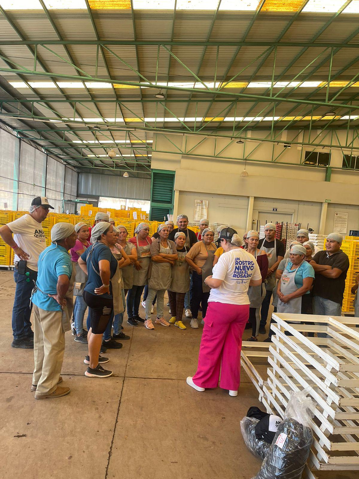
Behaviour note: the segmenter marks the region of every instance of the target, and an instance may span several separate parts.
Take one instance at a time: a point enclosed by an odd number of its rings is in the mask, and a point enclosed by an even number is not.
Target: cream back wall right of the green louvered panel
[[[297,131],[288,131],[278,139],[290,141]],[[338,137],[343,141],[346,132],[339,131]],[[316,142],[323,138],[323,144],[330,144],[331,134],[312,131],[312,139],[319,134]],[[248,132],[251,138],[265,137],[268,131]],[[166,138],[167,137],[167,138]],[[209,201],[208,217],[211,223],[226,223],[243,233],[247,228],[248,198],[253,196],[253,212],[249,218],[255,221],[267,216],[279,218],[282,215],[292,215],[292,221],[302,223],[303,227],[313,228],[319,232],[322,205],[328,204],[326,221],[323,222],[322,233],[329,233],[333,228],[334,211],[348,211],[348,230],[359,229],[359,171],[343,171],[340,150],[332,151],[331,166],[333,166],[331,181],[325,181],[325,168],[314,168],[300,164],[304,151],[313,148],[292,146],[283,150],[282,145],[246,141],[238,145],[228,139],[200,138],[191,135],[160,135],[154,138],[152,168],[175,170],[175,211],[186,213],[190,221],[193,218],[195,199]],[[335,138],[335,135],[333,136]],[[170,139],[170,141],[169,141]],[[203,139],[201,144],[198,144]],[[307,141],[308,135],[300,134],[295,141]],[[349,135],[349,140],[351,137]],[[172,143],[171,143],[172,142]],[[358,145],[356,145],[358,142]],[[359,148],[359,140],[354,145]],[[335,139],[333,139],[333,144]],[[174,145],[176,146],[174,146]],[[218,159],[216,153],[228,158]],[[180,150],[182,153],[180,153]],[[254,150],[250,153],[251,150]],[[277,162],[270,162],[282,152]],[[166,151],[166,153],[164,153]],[[320,148],[316,151],[330,151]],[[185,154],[185,153],[186,154]],[[345,153],[348,153],[345,150]],[[240,176],[245,162],[244,157],[257,161],[247,161],[246,171],[249,176]],[[269,160],[269,162],[264,162]],[[335,169],[338,168],[338,169]],[[277,208],[274,215],[273,208]],[[264,212],[266,214],[264,215]],[[272,212],[272,215],[270,213]]]

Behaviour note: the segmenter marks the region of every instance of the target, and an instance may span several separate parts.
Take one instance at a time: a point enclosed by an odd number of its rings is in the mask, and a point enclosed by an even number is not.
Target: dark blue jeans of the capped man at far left
[[[12,308],[12,334],[14,339],[23,339],[32,336],[31,311],[33,304],[30,304],[31,292],[34,289],[34,282],[37,279],[37,271],[27,270],[30,275],[27,280],[25,274],[19,274],[14,270],[14,281],[16,283],[14,306]]]

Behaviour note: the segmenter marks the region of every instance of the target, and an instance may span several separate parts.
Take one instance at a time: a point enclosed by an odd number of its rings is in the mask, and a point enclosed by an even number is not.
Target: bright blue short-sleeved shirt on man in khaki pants
[[[67,274],[71,278],[72,264],[68,251],[63,246],[51,244],[39,256],[37,263],[39,272],[36,284],[45,294],[37,290],[33,296],[33,303],[45,311],[61,311],[61,306],[54,298],[47,295],[56,295],[57,278]]]

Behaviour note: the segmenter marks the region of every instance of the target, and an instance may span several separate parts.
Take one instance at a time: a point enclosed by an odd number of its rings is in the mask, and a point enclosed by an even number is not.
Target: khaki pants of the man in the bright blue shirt
[[[65,351],[62,311],[45,311],[34,304],[34,375],[36,394],[55,391]]]

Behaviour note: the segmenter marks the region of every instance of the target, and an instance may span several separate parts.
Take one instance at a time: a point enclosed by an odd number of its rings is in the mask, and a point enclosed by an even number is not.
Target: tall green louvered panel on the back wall
[[[173,213],[175,171],[152,170],[150,220],[163,221]]]

